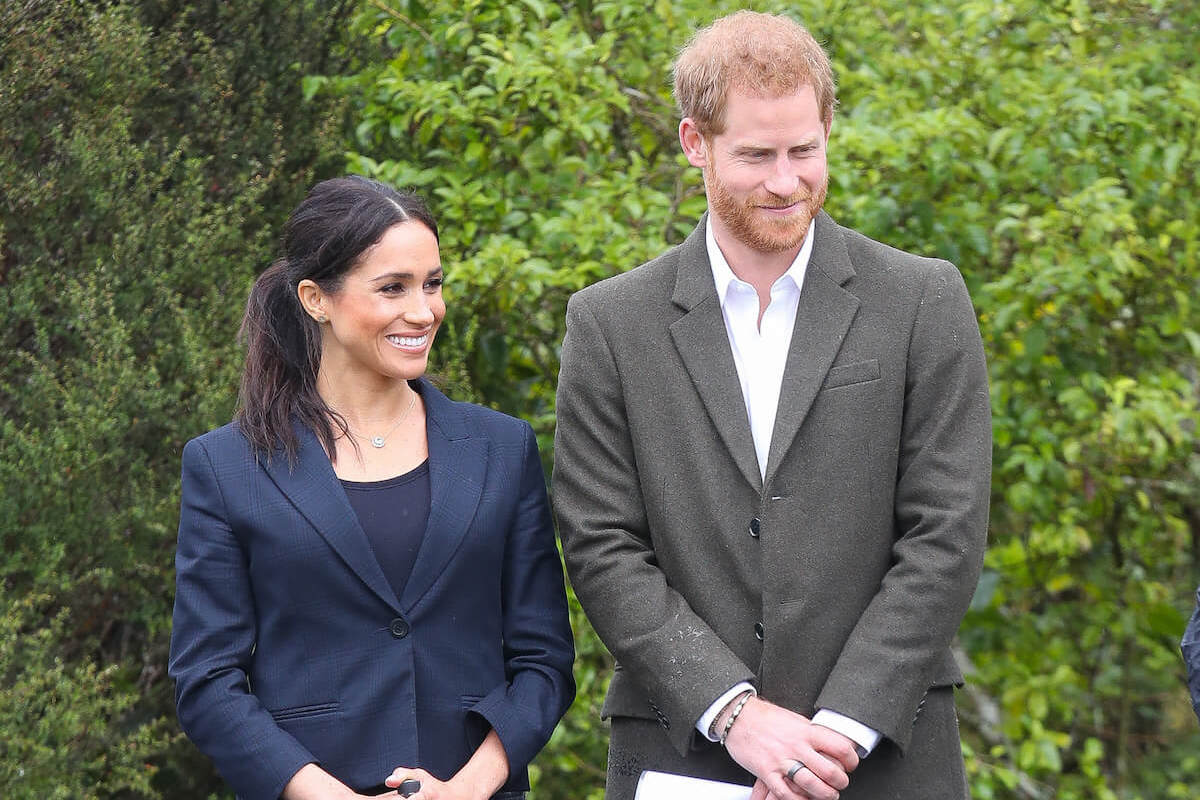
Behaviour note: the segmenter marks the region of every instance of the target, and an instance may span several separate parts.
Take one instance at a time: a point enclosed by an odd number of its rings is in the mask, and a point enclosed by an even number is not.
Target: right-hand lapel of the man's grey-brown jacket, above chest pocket
[[[814,236],[812,254],[796,309],[784,383],[779,390],[779,410],[767,458],[768,479],[774,475],[804,425],[804,417],[858,313],[858,297],[841,288],[853,277],[854,267],[838,223],[824,211],[817,215]]]

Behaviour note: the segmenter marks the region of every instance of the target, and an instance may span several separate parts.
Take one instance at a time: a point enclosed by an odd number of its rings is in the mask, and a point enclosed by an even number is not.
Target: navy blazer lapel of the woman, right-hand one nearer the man
[[[463,413],[424,378],[415,387],[425,401],[430,447],[430,521],[416,563],[401,595],[407,612],[430,590],[462,543],[487,476],[487,439],[472,437]]]

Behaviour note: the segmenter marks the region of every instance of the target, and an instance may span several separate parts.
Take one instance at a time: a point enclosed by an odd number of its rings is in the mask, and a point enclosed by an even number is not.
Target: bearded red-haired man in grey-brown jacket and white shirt
[[[821,211],[829,61],[738,12],[674,66],[709,212],[571,297],[556,513],[642,770],[752,798],[965,798],[950,640],[985,542],[986,371],[962,279]]]

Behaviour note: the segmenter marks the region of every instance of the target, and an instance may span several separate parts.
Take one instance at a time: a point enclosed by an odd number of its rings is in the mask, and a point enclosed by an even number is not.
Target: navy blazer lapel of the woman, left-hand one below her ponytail
[[[300,437],[295,469],[282,455],[260,461],[263,469],[362,583],[398,612],[396,593],[376,560],[329,456],[307,426],[296,423],[295,428]]]

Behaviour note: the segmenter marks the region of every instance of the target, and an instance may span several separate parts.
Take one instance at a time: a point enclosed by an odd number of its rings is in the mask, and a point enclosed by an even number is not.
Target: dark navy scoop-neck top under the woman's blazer
[[[430,462],[383,481],[342,481],[376,560],[398,597],[430,521]]]

